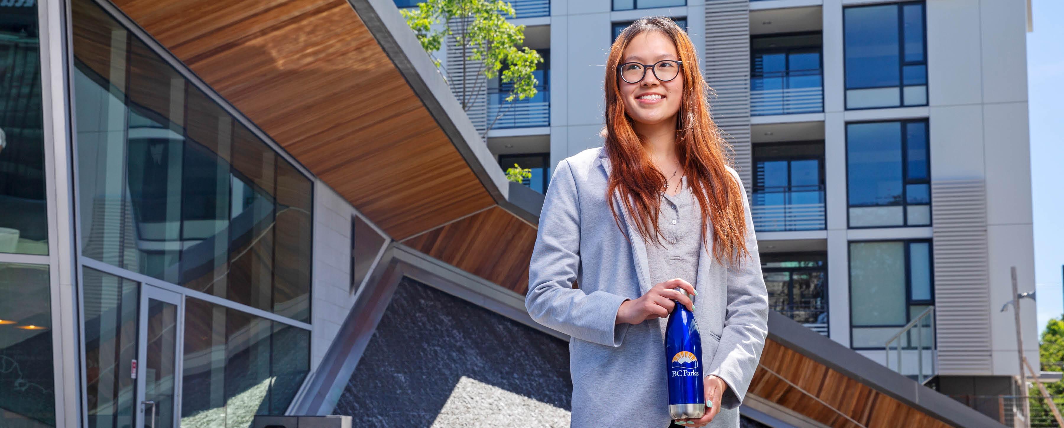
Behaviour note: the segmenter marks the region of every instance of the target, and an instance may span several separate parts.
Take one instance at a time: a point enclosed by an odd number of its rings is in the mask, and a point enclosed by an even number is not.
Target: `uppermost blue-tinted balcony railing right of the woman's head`
[[[750,79],[750,116],[824,112],[820,71],[765,73]]]

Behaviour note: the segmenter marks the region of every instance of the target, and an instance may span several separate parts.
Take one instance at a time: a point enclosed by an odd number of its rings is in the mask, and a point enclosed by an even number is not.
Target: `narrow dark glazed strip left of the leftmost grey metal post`
[[[40,28],[34,2],[0,4],[0,427],[54,427],[55,376]]]

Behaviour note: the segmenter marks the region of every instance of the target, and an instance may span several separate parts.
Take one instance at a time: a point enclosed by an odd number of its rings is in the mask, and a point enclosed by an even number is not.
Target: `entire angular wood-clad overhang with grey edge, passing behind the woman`
[[[505,181],[392,0],[113,0],[393,239],[521,295],[543,196]],[[830,427],[1000,426],[771,313],[749,393]]]

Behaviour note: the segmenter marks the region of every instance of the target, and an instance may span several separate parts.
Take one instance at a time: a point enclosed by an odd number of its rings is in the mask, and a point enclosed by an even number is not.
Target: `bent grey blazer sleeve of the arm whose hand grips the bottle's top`
[[[573,289],[580,268],[580,199],[568,160],[558,162],[539,211],[525,307],[537,323],[573,338],[620,346],[629,324],[614,324],[628,299]],[[586,287],[584,287],[586,288]]]

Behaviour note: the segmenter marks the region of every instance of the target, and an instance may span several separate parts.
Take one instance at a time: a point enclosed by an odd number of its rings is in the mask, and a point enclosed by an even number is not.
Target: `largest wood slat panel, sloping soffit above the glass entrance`
[[[114,3],[394,238],[495,203],[346,1]]]

